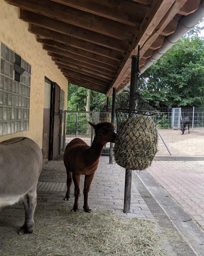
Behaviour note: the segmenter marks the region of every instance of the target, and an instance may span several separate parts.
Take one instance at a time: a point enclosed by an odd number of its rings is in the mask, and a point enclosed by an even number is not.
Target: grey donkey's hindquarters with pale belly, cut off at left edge
[[[16,137],[0,143],[0,210],[19,201],[24,203],[25,222],[20,235],[34,230],[41,169],[42,152],[33,140]]]

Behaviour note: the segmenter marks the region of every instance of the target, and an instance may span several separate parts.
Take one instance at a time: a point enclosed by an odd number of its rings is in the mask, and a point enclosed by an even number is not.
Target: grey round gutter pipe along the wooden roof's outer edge
[[[179,39],[191,28],[193,28],[202,18],[204,17],[204,0],[200,1],[200,4],[198,6],[198,9],[194,11],[192,14],[189,14],[187,16],[183,16],[178,26],[173,34],[170,34],[169,36],[166,36],[164,39],[164,42],[162,46],[156,50],[153,51],[153,54],[151,57],[149,57],[145,65],[143,65],[140,68],[140,75],[145,72],[146,69],[148,69],[154,62],[156,62],[162,55],[171,48],[172,45],[174,45]],[[130,85],[130,82],[127,82],[125,84],[125,88]]]

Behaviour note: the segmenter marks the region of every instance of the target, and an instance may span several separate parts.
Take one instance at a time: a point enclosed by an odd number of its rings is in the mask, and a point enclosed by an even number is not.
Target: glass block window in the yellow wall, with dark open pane
[[[29,130],[31,66],[21,59],[21,68],[26,71],[17,74],[14,71],[16,56],[15,52],[1,43],[0,136]],[[15,79],[16,74],[18,81]]]

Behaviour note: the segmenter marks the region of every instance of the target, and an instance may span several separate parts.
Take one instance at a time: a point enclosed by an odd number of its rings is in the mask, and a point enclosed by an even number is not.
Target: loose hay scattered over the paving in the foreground
[[[119,218],[112,210],[70,212],[58,207],[50,216],[36,213],[33,234],[8,241],[21,256],[164,256],[163,236],[150,220]],[[4,254],[4,256],[11,254]]]

